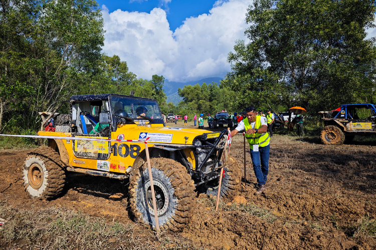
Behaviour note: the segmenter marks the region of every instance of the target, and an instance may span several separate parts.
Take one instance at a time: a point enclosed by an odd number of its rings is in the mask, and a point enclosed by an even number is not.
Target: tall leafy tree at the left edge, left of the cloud
[[[23,112],[23,124],[31,127],[30,121],[40,119],[38,111],[52,111],[95,74],[103,19],[95,0],[0,4],[0,124],[6,110]]]

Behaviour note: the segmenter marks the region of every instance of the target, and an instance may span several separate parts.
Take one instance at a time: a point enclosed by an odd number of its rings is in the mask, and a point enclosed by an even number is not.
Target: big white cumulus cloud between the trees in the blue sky
[[[120,9],[109,13],[103,5],[103,50],[119,55],[130,71],[145,79],[153,74],[169,81],[224,76],[230,71],[228,53],[237,39],[246,38],[245,14],[251,3],[219,0],[209,14],[186,18],[174,31],[161,8],[150,13]]]

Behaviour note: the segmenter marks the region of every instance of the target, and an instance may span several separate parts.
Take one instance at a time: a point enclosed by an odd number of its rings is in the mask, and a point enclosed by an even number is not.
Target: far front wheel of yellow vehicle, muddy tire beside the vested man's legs
[[[225,176],[222,177],[220,195],[221,197],[231,198],[239,191],[242,173],[238,162],[232,156],[227,159],[224,170]],[[218,186],[219,179],[215,179],[202,184],[200,190],[208,195],[217,196]]]

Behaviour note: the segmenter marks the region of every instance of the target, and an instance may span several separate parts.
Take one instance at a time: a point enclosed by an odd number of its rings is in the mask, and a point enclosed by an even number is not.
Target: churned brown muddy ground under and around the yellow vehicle
[[[376,217],[374,142],[359,142],[355,137],[352,144],[333,146],[318,139],[275,134],[270,144],[267,190],[254,195],[256,178],[247,153],[250,182],[242,182],[235,200],[222,200],[218,212],[210,199],[198,195],[191,223],[180,232],[186,240],[202,249],[376,248],[375,238],[357,231],[362,218]],[[120,181],[71,177],[64,195],[55,200],[28,198],[22,178],[28,151],[0,150],[1,201],[21,209],[61,206],[144,228],[129,213],[126,184]],[[233,138],[230,154],[243,171],[242,135]],[[264,213],[250,213],[255,207]]]

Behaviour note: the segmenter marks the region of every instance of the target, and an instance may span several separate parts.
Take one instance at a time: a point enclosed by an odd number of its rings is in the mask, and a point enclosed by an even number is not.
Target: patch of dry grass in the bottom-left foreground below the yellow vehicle
[[[154,232],[135,223],[106,221],[71,210],[50,207],[22,210],[0,201],[0,245],[7,249],[193,249],[181,235]]]

